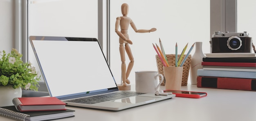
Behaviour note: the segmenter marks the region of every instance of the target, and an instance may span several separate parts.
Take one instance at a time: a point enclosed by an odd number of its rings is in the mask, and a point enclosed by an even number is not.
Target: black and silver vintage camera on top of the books
[[[211,53],[252,53],[252,37],[247,32],[220,33],[215,31],[212,35]]]

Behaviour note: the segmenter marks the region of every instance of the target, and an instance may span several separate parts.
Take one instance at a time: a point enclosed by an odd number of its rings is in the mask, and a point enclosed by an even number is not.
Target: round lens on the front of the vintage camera
[[[238,50],[242,46],[242,40],[237,36],[229,37],[227,40],[227,46],[231,50]]]

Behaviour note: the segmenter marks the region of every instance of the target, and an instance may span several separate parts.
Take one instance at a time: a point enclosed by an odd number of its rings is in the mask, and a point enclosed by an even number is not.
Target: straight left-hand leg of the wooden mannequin
[[[121,77],[122,77],[122,85],[126,86],[126,64],[125,64],[125,48],[123,44],[119,45],[119,51],[121,56]]]

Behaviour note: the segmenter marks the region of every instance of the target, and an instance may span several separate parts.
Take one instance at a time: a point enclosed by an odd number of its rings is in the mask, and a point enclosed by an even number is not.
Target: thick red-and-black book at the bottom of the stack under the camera
[[[198,76],[197,87],[256,91],[256,79]]]

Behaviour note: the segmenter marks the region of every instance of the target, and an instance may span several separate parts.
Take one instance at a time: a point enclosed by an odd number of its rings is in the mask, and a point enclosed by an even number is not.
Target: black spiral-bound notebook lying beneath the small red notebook
[[[18,112],[14,106],[0,107],[0,116],[17,121],[50,121],[74,117],[74,110]]]

